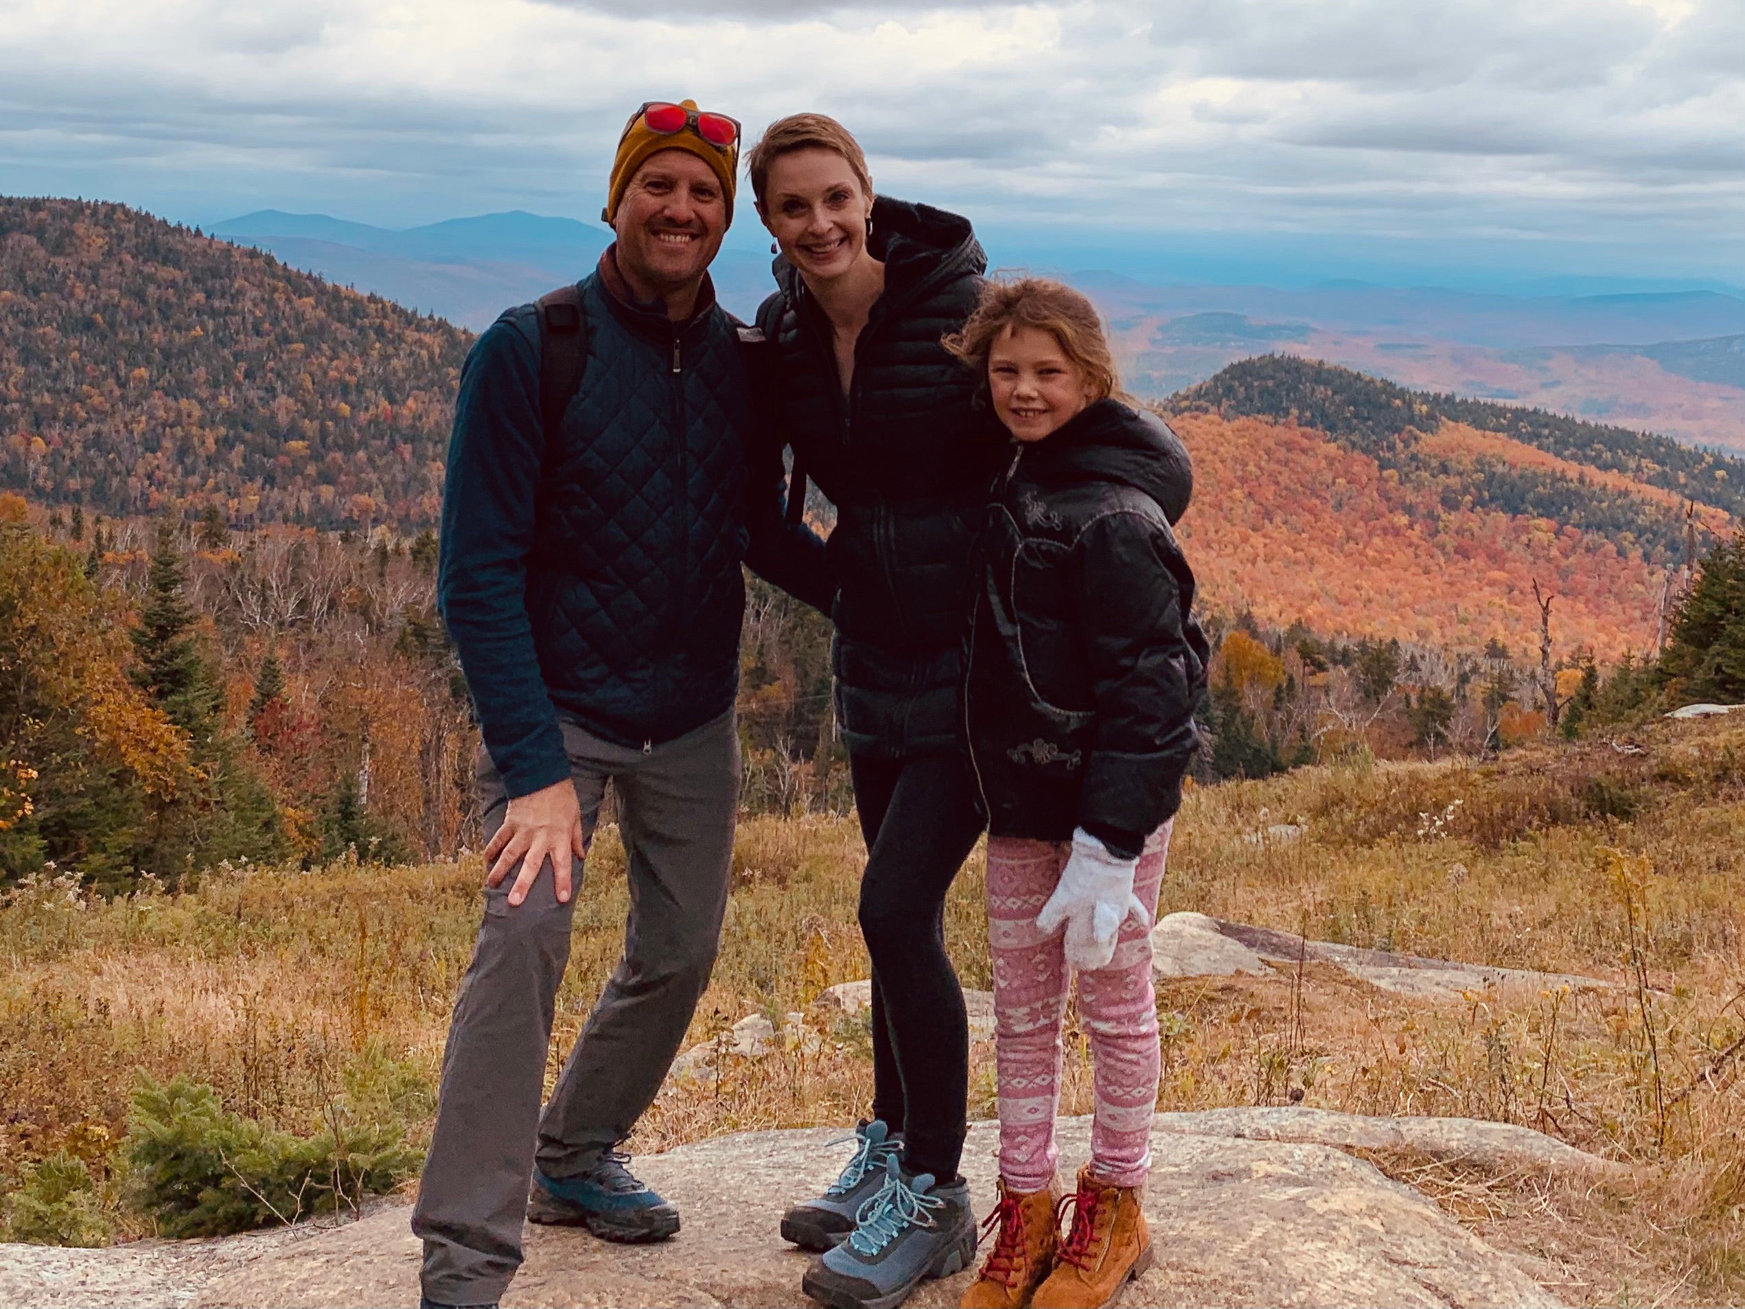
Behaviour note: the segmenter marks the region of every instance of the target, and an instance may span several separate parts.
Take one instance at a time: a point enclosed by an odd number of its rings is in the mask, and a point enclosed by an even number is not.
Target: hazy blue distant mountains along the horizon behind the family
[[[612,239],[595,223],[522,209],[403,230],[262,209],[209,234],[473,330],[581,278]],[[747,319],[773,286],[770,255],[749,239],[735,232],[738,244],[726,246],[712,267],[721,302]],[[1012,255],[1023,253],[1009,234],[989,232],[988,244],[996,269],[1012,267]],[[1098,302],[1120,339],[1127,380],[1141,394],[1192,386],[1241,358],[1302,353],[1403,386],[1537,403],[1745,449],[1745,297],[1728,290],[1619,293],[1628,283],[1591,279],[1557,293],[1504,295],[1351,278],[1256,286],[1133,276],[1155,269],[1159,258],[1157,250],[1134,246],[1131,262],[1026,264],[1064,276]],[[1668,384],[1665,375],[1680,380]],[[1686,384],[1728,393],[1687,405]]]

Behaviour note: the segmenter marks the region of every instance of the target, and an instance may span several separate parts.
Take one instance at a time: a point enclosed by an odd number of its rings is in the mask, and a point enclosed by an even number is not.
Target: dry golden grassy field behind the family
[[[1304,834],[1272,841],[1276,824]],[[808,1011],[867,974],[852,820],[742,826],[715,979],[693,1040]],[[1745,1299],[1745,726],[1658,724],[1630,742],[1497,763],[1352,761],[1190,794],[1164,911],[1309,937],[1588,974],[1607,991],[1431,1004],[1326,965],[1300,977],[1164,986],[1164,1108],[1288,1103],[1522,1122],[1639,1164],[1570,1189],[1379,1161],[1487,1239],[1543,1260],[1584,1304]],[[136,1070],[188,1073],[237,1112],[312,1131],[349,1112],[428,1131],[455,984],[478,920],[476,859],[243,871],[183,895],[96,902],[59,883],[0,908],[0,1175],[54,1150],[110,1164]],[[948,916],[965,986],[988,986],[979,855]],[[623,932],[623,850],[600,834],[578,901],[551,1072]],[[633,1147],[852,1122],[871,1094],[866,1030],[722,1063],[672,1089]],[[1068,1112],[1089,1108],[1070,1033]],[[970,1110],[993,1108],[979,1045]],[[141,1220],[122,1213],[124,1234]]]

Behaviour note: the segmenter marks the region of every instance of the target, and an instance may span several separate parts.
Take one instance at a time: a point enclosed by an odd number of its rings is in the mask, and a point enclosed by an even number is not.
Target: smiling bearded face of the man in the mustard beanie
[[[728,197],[714,169],[688,150],[660,150],[630,178],[618,216],[618,269],[639,295],[701,281],[728,232]]]

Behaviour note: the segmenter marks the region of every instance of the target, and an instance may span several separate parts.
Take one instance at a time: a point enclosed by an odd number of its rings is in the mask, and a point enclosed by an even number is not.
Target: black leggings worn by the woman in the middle
[[[860,934],[872,956],[872,1115],[904,1134],[904,1166],[958,1175],[970,1033],[946,956],[946,892],[981,836],[968,761],[850,757],[867,843]]]

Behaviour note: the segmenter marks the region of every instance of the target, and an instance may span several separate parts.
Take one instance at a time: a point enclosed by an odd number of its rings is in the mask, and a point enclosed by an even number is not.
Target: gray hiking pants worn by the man
[[[534,1159],[546,1176],[578,1176],[630,1134],[654,1101],[708,986],[728,904],[740,740],[733,714],[642,752],[564,724],[583,827],[593,836],[606,780],[619,799],[630,862],[625,953],[539,1110],[558,981],[569,960],[569,904],[550,860],[518,908],[513,873],[485,890],[473,965],[443,1051],[436,1133],[412,1230],[424,1241],[424,1295],[496,1304],[522,1264]],[[485,833],[508,798],[480,750]],[[579,873],[579,871],[578,871]]]

